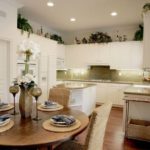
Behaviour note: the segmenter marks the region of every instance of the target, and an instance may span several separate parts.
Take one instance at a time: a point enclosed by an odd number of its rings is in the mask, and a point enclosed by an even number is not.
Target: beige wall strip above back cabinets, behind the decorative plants
[[[97,31],[108,33],[113,39],[116,41],[116,36],[126,35],[127,40],[133,40],[134,33],[138,29],[138,25],[127,25],[127,26],[118,26],[118,27],[105,27],[105,28],[97,28],[97,29],[88,29],[88,30],[81,30],[81,31],[72,31],[72,32],[65,32],[62,33],[63,40],[66,44],[74,44],[75,37],[81,40],[83,37],[89,37],[91,33],[95,33]]]

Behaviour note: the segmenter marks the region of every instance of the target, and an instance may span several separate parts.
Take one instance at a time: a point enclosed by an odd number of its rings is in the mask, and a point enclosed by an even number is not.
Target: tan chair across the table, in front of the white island
[[[58,102],[64,107],[68,107],[70,99],[70,90],[63,87],[53,87],[49,92],[49,100]]]

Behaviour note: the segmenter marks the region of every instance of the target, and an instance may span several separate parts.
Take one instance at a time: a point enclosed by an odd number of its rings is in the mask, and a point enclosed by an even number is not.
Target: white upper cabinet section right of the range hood
[[[142,42],[112,42],[110,43],[111,69],[142,69]]]

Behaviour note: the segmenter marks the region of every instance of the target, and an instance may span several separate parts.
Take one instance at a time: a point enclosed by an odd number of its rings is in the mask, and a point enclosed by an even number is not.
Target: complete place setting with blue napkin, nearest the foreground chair
[[[71,115],[54,115],[42,124],[43,128],[53,132],[69,132],[78,129],[81,122]]]

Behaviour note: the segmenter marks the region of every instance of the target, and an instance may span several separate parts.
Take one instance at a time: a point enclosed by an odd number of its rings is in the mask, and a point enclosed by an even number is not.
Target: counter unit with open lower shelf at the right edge
[[[150,86],[131,86],[124,100],[125,136],[150,141]]]

